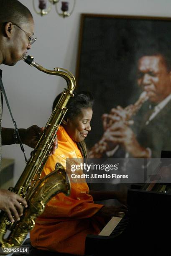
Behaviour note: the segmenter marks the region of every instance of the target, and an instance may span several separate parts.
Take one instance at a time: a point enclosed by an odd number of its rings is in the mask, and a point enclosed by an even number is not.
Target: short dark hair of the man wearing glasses
[[[33,18],[30,10],[18,0],[0,0],[0,23],[13,22],[20,25]]]

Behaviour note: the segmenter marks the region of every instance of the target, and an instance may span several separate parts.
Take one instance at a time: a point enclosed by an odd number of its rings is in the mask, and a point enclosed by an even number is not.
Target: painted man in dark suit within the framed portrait
[[[102,116],[104,134],[91,149],[91,157],[159,158],[171,151],[171,58],[164,51],[148,49],[138,58],[137,84],[147,94],[138,113],[128,120],[130,109],[112,108]],[[118,148],[120,148],[118,150]],[[122,150],[121,150],[122,149]],[[122,153],[121,153],[122,151]]]

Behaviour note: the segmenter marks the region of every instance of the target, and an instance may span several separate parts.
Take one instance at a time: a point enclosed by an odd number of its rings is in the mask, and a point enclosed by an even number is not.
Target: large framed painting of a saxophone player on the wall
[[[96,99],[89,157],[171,151],[171,19],[87,14],[81,35],[77,84]]]

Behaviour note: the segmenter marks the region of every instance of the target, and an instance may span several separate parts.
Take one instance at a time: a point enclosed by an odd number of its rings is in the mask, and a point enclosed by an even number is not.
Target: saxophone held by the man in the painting
[[[132,116],[135,115],[138,110],[141,108],[141,106],[143,105],[143,103],[145,101],[148,100],[148,96],[147,96],[147,92],[142,92],[140,94],[140,97],[138,98],[138,100],[131,105],[128,105],[124,110],[125,110],[125,116],[120,119],[122,120],[124,123],[126,123],[127,125],[132,125],[133,124],[133,120],[131,120]],[[107,115],[108,116],[108,115]],[[109,118],[110,119],[110,118]],[[113,124],[114,122],[110,119],[110,121],[107,124],[107,128],[110,128],[110,126]],[[106,129],[107,129],[106,128]],[[119,144],[116,145],[113,148],[113,154],[115,154],[115,152],[117,151],[117,149],[119,148]],[[101,158],[102,155],[107,151],[107,143],[105,142],[105,136],[102,136],[102,138],[100,139],[99,142],[97,142],[89,151],[89,158]]]

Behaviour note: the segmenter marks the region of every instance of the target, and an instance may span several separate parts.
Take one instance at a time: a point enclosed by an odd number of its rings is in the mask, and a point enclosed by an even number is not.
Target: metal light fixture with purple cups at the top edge
[[[46,14],[48,14],[51,11],[52,5],[55,6],[56,9],[56,13],[65,18],[65,17],[69,17],[75,8],[75,2],[76,0],[72,0],[73,1],[73,5],[72,5],[72,9],[71,11],[68,13],[69,10],[69,2],[66,1],[61,1],[61,0],[48,0],[48,7],[47,7],[47,0],[38,0],[39,4],[38,4],[38,8],[39,10],[36,10],[35,7],[35,0],[33,0],[33,9],[35,10],[35,12],[41,16],[44,16]],[[59,11],[59,4],[61,3],[61,11]]]

